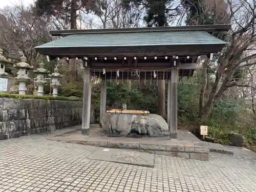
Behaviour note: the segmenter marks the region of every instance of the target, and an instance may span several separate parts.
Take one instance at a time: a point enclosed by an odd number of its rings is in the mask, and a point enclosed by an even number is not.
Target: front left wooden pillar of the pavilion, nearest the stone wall
[[[90,68],[83,69],[83,99],[82,99],[82,135],[90,133],[90,112],[91,112],[91,74]]]

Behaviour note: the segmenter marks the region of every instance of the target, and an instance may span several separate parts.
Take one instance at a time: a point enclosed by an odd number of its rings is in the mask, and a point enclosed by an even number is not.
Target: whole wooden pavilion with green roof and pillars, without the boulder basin
[[[167,123],[177,138],[178,76],[192,76],[199,56],[210,59],[226,42],[211,35],[229,25],[55,30],[61,36],[35,47],[50,59],[80,58],[84,66],[82,134],[90,130],[91,77],[101,80],[100,118],[106,112],[106,79],[168,79]],[[137,74],[137,75],[134,75]]]

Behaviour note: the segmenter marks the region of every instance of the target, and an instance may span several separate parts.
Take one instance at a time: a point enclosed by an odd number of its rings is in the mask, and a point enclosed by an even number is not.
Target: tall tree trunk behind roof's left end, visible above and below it
[[[72,0],[70,10],[70,29],[77,29],[76,26],[76,11],[77,11],[77,0]],[[77,81],[77,64],[75,58],[69,59],[69,71],[70,79]]]

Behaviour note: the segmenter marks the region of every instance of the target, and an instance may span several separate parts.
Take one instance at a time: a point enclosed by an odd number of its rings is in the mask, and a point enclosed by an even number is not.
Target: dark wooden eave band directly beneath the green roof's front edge
[[[118,57],[118,56],[197,56],[220,52],[225,44],[217,45],[172,45],[136,47],[65,47],[36,48],[42,55],[55,57]]]

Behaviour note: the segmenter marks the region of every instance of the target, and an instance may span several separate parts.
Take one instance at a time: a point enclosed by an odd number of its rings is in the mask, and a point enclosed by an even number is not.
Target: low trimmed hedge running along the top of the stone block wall
[[[37,95],[18,95],[18,94],[8,94],[0,93],[0,98],[15,98],[15,99],[44,99],[44,100],[58,100],[58,101],[79,101],[79,99],[68,98],[68,97],[53,97],[53,96],[37,96]]]

